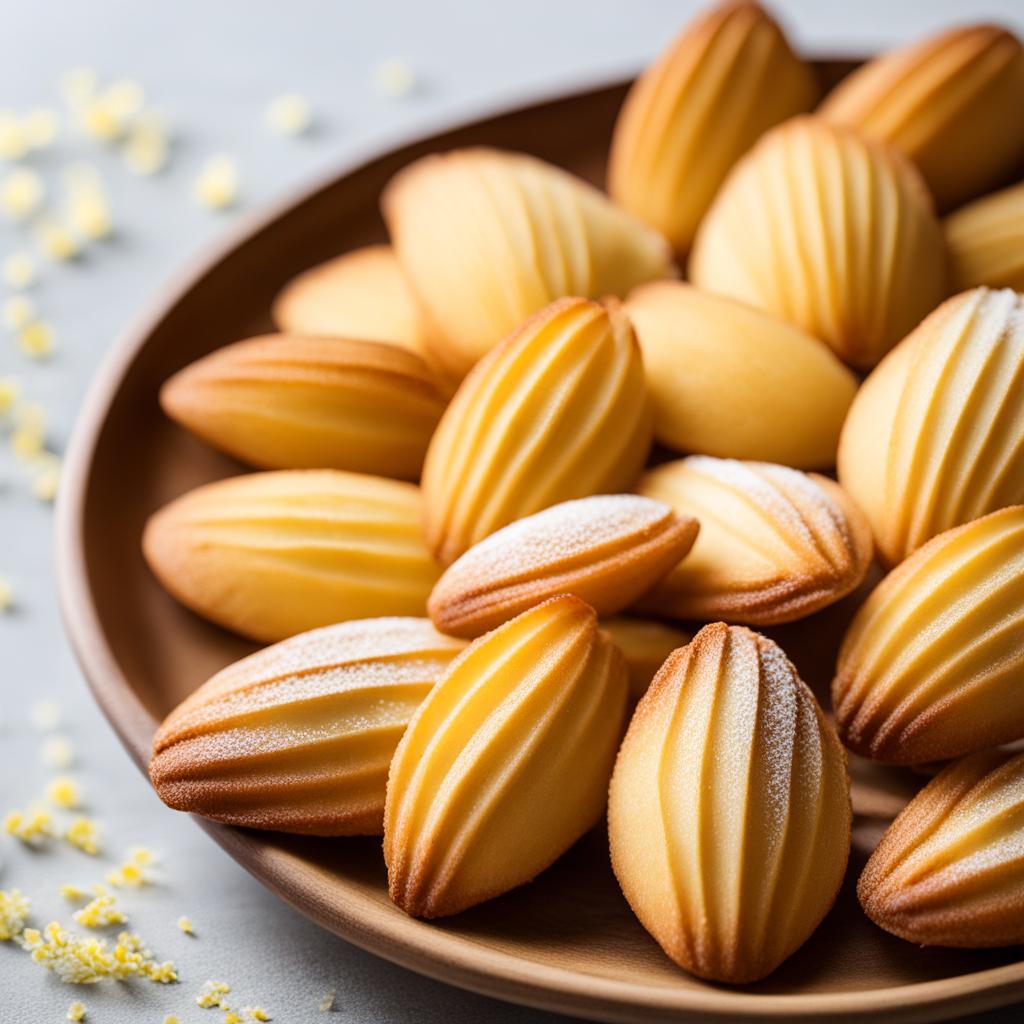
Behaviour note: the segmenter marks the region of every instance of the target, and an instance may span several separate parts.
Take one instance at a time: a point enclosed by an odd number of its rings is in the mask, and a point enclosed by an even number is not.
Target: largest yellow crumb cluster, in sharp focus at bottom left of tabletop
[[[19,942],[33,961],[69,984],[88,985],[103,978],[142,977],[161,984],[177,980],[174,965],[156,963],[132,932],[122,932],[111,948],[105,939],[79,938],[53,921],[42,932],[27,928]]]

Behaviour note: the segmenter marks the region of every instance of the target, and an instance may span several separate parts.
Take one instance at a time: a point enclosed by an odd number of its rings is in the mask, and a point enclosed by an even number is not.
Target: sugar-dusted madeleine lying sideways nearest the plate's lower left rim
[[[226,824],[380,836],[398,740],[464,646],[425,618],[284,640],[221,670],[168,715],[150,778],[168,806]]]

